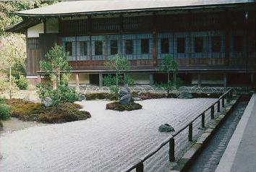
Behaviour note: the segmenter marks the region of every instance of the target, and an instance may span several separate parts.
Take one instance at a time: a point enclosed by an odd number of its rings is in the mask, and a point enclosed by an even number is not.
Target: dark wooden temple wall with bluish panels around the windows
[[[254,11],[255,12],[255,11]],[[132,55],[127,55],[132,69],[157,69],[163,54],[161,38],[168,38],[169,53],[174,53],[180,66],[234,66],[253,67],[255,65],[255,15],[249,12],[248,22],[245,22],[244,12],[203,12],[188,14],[148,15],[140,17],[91,18],[86,20],[60,20],[59,34],[40,34],[40,38],[27,38],[27,71],[35,74],[39,70],[39,59],[55,42],[64,46],[71,41],[74,54],[69,64],[73,69],[92,70],[106,69],[105,62],[109,55],[110,40],[118,40],[119,53],[124,52],[124,40],[132,39],[135,49]],[[221,37],[221,51],[212,53],[210,39],[213,35]],[[234,35],[242,35],[244,48],[242,52],[234,52]],[[195,37],[202,37],[204,51],[193,52]],[[176,53],[176,38],[185,38],[186,51]],[[150,40],[150,53],[140,53],[140,40]],[[249,41],[247,41],[249,39]],[[93,52],[96,40],[103,40],[103,55],[96,56]],[[88,43],[88,54],[80,56],[79,41]],[[246,42],[249,42],[247,45]],[[35,44],[33,47],[32,44]],[[39,46],[38,46],[39,45]],[[247,49],[252,47],[248,52]],[[65,48],[65,47],[64,47]],[[245,60],[246,59],[246,60]]]

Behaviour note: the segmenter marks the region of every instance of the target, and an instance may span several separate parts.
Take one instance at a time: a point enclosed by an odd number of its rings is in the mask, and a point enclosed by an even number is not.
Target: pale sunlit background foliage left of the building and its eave
[[[17,33],[6,33],[4,29],[17,22],[22,21],[15,12],[44,7],[49,4],[54,4],[56,1],[0,1],[0,90],[6,90],[8,85],[7,74],[9,66],[12,65],[12,75],[20,76],[20,73],[25,74],[25,35]]]

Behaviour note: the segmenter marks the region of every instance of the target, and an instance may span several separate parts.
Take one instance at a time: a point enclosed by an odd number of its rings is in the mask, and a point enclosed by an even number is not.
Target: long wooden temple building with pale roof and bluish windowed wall
[[[136,84],[164,82],[158,65],[173,54],[184,85],[255,87],[255,1],[63,1],[17,15],[22,22],[7,31],[26,35],[32,84],[44,78],[39,61],[58,43],[69,52],[71,84],[102,86],[111,72],[104,64],[119,53]]]

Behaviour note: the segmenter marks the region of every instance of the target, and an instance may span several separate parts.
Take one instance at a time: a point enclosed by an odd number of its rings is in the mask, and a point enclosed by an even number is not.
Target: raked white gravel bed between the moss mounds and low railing
[[[91,119],[2,135],[0,171],[123,171],[169,136],[158,126],[182,128],[214,100],[143,100],[142,110],[130,112],[105,110],[103,100],[85,101]],[[146,171],[169,166],[167,147],[145,162]]]

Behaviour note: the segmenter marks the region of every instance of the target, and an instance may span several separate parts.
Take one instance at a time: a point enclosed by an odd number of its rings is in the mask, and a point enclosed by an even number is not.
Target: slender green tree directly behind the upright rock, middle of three
[[[133,80],[127,74],[127,70],[129,69],[129,62],[126,58],[121,57],[119,54],[116,54],[114,58],[110,59],[106,66],[110,70],[114,70],[115,76],[108,74],[106,77],[103,78],[104,85],[110,87],[112,93],[119,92],[119,85],[124,83],[126,85],[132,85]],[[124,78],[121,77],[121,74],[124,73]]]

